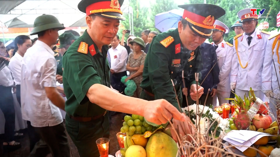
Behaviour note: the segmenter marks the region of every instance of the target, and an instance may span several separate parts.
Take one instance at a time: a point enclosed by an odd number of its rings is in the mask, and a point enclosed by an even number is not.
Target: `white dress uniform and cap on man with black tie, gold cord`
[[[258,19],[260,14],[252,15],[251,8],[238,12],[239,19],[243,21]],[[250,88],[255,91],[255,96],[265,101],[265,94],[262,92],[262,68],[265,56],[265,47],[269,38],[269,33],[265,31],[255,31],[250,35],[251,44],[248,44],[248,35],[239,34],[233,41],[233,59],[230,82],[236,83],[235,94],[248,97]]]

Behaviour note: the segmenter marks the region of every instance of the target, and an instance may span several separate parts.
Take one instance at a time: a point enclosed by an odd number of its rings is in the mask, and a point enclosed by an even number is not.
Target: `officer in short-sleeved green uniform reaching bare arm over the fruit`
[[[80,157],[100,156],[96,140],[109,138],[107,110],[141,115],[156,124],[172,117],[186,120],[164,99],[137,99],[111,88],[106,56],[108,44],[117,34],[120,20],[124,20],[122,3],[123,0],[82,0],[78,9],[86,13],[88,29],[62,57],[66,129]]]

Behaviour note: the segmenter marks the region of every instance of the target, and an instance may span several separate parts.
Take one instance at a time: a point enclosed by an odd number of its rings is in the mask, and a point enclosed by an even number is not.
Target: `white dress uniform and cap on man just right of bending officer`
[[[230,31],[229,28],[219,20],[215,21],[214,27],[215,28],[213,29],[213,31],[222,31],[225,34]],[[225,99],[230,97],[230,70],[233,57],[233,45],[225,42],[225,40],[220,42],[218,45],[216,45],[214,42],[212,42],[211,44],[213,46],[218,46],[218,48],[216,49],[216,54],[218,58],[218,65],[220,68],[220,83],[217,86],[217,94],[213,97],[213,105],[217,105],[218,97],[219,105],[221,106],[223,103],[228,103],[229,101]]]

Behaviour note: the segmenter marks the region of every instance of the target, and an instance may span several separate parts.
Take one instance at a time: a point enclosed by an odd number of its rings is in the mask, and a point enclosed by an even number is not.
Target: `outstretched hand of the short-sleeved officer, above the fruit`
[[[167,100],[158,99],[148,101],[143,107],[143,117],[149,122],[161,125],[167,123],[172,117],[182,122],[185,121],[185,114],[180,113],[177,108]]]

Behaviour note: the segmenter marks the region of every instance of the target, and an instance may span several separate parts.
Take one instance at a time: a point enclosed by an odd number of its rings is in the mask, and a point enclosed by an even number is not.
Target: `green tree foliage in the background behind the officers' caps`
[[[203,3],[204,0],[189,0],[188,3]],[[172,0],[154,0],[150,1],[150,7],[145,5],[140,5],[141,0],[130,0],[130,6],[133,8],[134,17],[134,35],[140,37],[141,32],[145,29],[150,29],[151,31],[157,30],[154,26],[155,15],[158,13],[170,11],[172,9],[178,9],[176,1]],[[225,9],[226,14],[220,17],[218,20],[223,22],[230,28],[230,33],[226,34],[224,39],[228,41],[230,38],[235,36],[234,31],[231,26],[238,19],[237,13],[244,8],[258,8],[266,9],[262,16],[271,16],[267,19],[259,19],[259,23],[263,21],[269,22],[269,27],[276,27],[276,16],[280,10],[279,0],[206,0],[208,4],[215,4],[217,6]],[[138,13],[138,18],[137,18]],[[121,22],[125,29],[129,29],[129,16],[124,14],[126,21]],[[119,33],[121,34],[121,31]],[[157,30],[158,31],[158,30]]]

